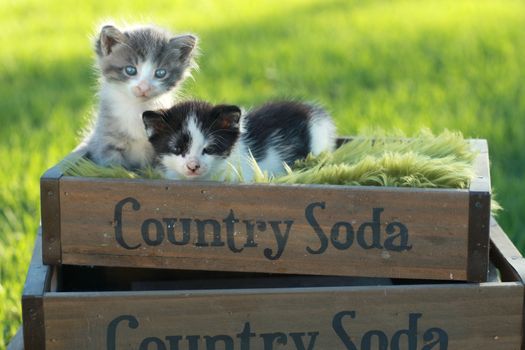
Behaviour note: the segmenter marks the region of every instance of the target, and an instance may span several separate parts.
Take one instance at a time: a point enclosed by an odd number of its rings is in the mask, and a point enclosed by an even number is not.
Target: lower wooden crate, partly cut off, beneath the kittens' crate
[[[199,278],[185,284],[198,272],[52,269],[41,264],[37,241],[22,303],[25,345],[39,350],[525,349],[524,259],[495,223],[491,236],[491,258],[504,282],[398,280],[404,284],[359,287],[345,286],[351,281],[346,277],[236,274],[232,280],[217,273],[222,276],[212,282]],[[273,286],[256,287],[259,279]],[[207,289],[216,282],[222,289]],[[145,289],[155,283],[179,290]],[[189,285],[193,289],[185,289]]]

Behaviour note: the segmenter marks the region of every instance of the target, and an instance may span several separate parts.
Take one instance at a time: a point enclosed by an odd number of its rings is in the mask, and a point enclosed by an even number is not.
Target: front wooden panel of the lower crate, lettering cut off
[[[518,349],[522,306],[518,283],[50,294],[44,303],[48,349],[263,349],[279,339],[289,347],[276,348],[291,349],[300,342],[302,348],[361,349],[371,339],[400,349],[432,348],[433,342],[442,349]]]

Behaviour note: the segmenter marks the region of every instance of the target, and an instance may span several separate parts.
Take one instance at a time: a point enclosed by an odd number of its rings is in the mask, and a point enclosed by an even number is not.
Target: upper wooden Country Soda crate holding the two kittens
[[[485,281],[484,140],[467,190],[41,179],[50,265]]]

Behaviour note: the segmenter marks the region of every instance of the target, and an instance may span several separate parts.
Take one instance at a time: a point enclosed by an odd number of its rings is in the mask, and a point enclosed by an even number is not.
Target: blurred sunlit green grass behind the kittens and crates
[[[90,35],[107,18],[201,38],[185,96],[317,100],[341,134],[422,127],[487,138],[499,221],[525,251],[522,1],[0,2],[0,349],[21,322],[39,176],[95,104]]]

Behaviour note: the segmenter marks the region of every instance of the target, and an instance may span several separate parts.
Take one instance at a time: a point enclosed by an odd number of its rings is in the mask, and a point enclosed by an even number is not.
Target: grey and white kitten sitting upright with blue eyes
[[[102,28],[95,42],[100,92],[98,115],[83,143],[88,158],[100,165],[140,168],[154,151],[142,113],[173,104],[170,92],[195,66],[197,38],[171,36],[154,27],[120,31]]]

